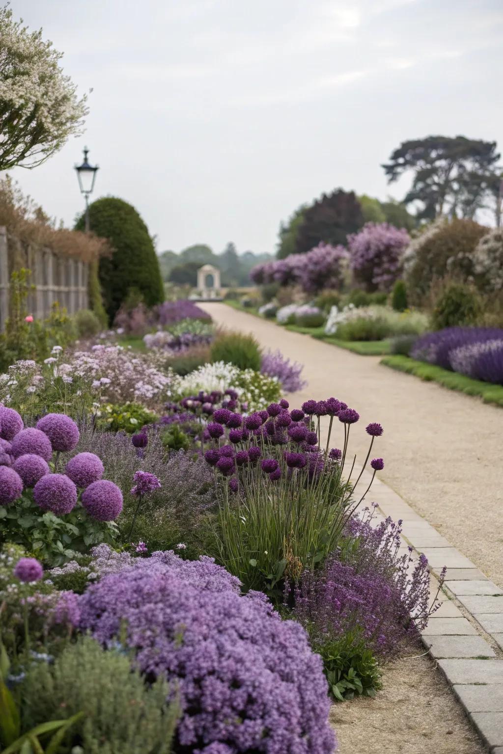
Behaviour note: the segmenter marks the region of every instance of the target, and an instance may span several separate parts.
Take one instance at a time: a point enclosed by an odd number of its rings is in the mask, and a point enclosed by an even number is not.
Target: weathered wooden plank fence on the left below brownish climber
[[[29,291],[26,308],[35,319],[47,317],[54,302],[64,306],[69,314],[87,308],[87,262],[22,244],[0,226],[0,330],[8,319],[11,273],[21,267],[31,271],[29,283],[33,288]]]

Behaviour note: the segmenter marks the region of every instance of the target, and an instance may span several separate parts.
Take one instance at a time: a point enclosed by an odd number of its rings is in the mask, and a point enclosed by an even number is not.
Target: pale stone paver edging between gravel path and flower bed
[[[472,725],[492,754],[503,754],[503,593],[396,492],[375,479],[367,495],[379,516],[401,519],[403,545],[424,553],[431,593],[447,566],[440,608],[422,633]]]

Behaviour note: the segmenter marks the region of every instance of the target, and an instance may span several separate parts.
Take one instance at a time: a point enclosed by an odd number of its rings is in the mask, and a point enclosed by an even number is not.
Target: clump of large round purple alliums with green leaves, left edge
[[[100,458],[79,453],[63,467],[60,454],[79,439],[65,414],[46,414],[36,428],[23,428],[17,412],[0,406],[0,533],[44,562],[64,562],[118,535],[122,493],[102,479]]]

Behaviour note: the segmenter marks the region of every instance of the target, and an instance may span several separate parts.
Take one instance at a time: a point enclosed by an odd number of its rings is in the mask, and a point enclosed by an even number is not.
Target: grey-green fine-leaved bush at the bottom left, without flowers
[[[33,664],[20,689],[23,730],[41,722],[84,716],[66,733],[66,750],[86,754],[168,754],[179,716],[162,677],[146,684],[127,653],[84,637],[53,665]]]

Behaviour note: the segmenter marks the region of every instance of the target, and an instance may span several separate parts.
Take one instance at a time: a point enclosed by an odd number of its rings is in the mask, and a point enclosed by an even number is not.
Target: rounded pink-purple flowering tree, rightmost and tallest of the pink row
[[[400,277],[409,234],[387,222],[367,222],[359,233],[348,236],[354,280],[365,290],[391,290]]]

